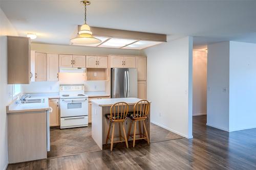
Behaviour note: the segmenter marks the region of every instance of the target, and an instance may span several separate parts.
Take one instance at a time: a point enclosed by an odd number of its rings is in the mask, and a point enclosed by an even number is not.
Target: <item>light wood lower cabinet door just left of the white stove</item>
[[[49,106],[52,108],[52,113],[50,113],[50,126],[59,126],[59,100],[49,100]]]

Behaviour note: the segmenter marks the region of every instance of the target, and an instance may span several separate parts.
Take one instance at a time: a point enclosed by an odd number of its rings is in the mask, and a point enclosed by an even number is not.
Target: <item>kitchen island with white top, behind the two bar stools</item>
[[[129,105],[129,111],[133,111],[134,105],[141,99],[138,98],[114,98],[114,99],[95,99],[92,102],[92,137],[102,150],[106,141],[106,136],[109,130],[109,123],[105,118],[105,114],[110,113],[110,107],[118,102],[125,102]],[[126,134],[131,123],[130,118],[127,118],[127,124],[124,124]],[[150,112],[145,121],[148,138],[150,139]],[[137,127],[139,128],[139,127]],[[139,131],[139,130],[138,130]],[[114,136],[119,135],[118,128],[115,129]],[[128,139],[129,140],[129,139]],[[130,140],[132,140],[130,138]]]

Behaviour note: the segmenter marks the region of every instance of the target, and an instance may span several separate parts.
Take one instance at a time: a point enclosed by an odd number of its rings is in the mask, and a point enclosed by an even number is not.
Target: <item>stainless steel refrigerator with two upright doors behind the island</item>
[[[136,68],[111,68],[111,98],[137,98]]]

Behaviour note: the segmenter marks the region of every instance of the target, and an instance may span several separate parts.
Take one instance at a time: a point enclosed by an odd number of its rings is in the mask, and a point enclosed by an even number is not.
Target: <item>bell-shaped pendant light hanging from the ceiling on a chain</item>
[[[70,40],[73,44],[97,44],[100,43],[101,40],[92,36],[92,32],[90,26],[86,23],[86,6],[90,5],[91,2],[89,1],[81,1],[81,4],[84,5],[84,24],[81,26],[80,31],[78,32],[77,36]]]

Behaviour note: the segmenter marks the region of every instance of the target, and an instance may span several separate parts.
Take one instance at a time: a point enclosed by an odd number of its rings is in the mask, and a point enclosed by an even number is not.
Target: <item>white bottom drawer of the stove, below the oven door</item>
[[[88,116],[61,117],[60,129],[79,126],[88,126]]]

